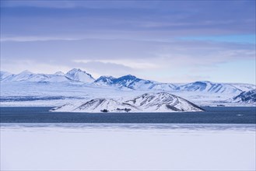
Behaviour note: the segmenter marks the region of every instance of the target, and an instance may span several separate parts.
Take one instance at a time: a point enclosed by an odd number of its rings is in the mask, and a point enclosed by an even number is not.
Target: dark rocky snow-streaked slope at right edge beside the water
[[[241,92],[240,95],[233,97],[233,102],[237,103],[256,103],[256,89]]]

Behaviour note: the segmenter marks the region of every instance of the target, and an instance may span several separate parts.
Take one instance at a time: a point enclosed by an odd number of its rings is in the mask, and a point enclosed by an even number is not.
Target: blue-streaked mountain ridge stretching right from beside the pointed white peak
[[[170,92],[210,92],[210,93],[226,93],[226,94],[239,94],[243,90],[237,88],[241,87],[233,86],[227,83],[214,83],[214,82],[191,82],[188,84],[171,84],[149,81],[145,79],[139,79],[133,75],[125,75],[120,78],[114,78],[111,76],[101,76],[96,79],[96,84],[100,86],[115,86],[118,88],[127,87],[129,89],[139,90],[159,90]],[[244,87],[246,84],[244,84]],[[252,85],[250,85],[252,87]],[[247,85],[247,88],[250,89]]]

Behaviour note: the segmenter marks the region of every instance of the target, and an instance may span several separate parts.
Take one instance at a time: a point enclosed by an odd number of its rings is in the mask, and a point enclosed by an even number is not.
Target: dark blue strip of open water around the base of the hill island
[[[256,124],[256,107],[205,107],[184,113],[51,113],[51,107],[0,107],[1,123]]]

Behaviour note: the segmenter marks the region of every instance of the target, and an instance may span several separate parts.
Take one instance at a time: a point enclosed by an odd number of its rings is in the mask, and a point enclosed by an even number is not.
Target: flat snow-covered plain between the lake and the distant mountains
[[[107,86],[96,86],[82,82],[59,83],[59,82],[1,82],[1,106],[61,106],[66,103],[81,103],[89,99],[111,98],[111,99],[131,99],[134,96],[142,95],[147,92],[163,92],[163,90],[132,90],[117,89]],[[169,92],[169,91],[165,91]],[[234,95],[215,92],[171,92],[170,93],[188,99],[191,103],[198,106],[255,106],[255,103],[232,103],[226,99]],[[238,95],[238,94],[237,94]],[[62,99],[55,97],[62,96]],[[5,100],[11,98],[10,100]],[[19,100],[23,97],[37,97],[37,100]],[[54,97],[55,99],[45,99]]]

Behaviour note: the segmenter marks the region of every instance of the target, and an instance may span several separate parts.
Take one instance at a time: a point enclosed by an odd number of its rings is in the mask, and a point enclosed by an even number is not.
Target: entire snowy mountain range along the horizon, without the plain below
[[[55,74],[35,74],[24,71],[17,75],[9,72],[1,72],[1,82],[63,82],[63,83],[86,83],[89,86],[114,87],[122,90],[142,90],[142,91],[167,91],[172,93],[196,92],[202,94],[223,95],[226,99],[238,96],[241,92],[255,89],[255,85],[243,83],[216,83],[208,81],[198,81],[191,83],[175,84],[161,83],[147,79],[139,79],[135,75],[124,75],[119,78],[113,76],[101,76],[99,79],[93,79],[93,76],[81,69],[74,68],[67,72],[56,72]],[[223,100],[226,100],[223,99]]]

